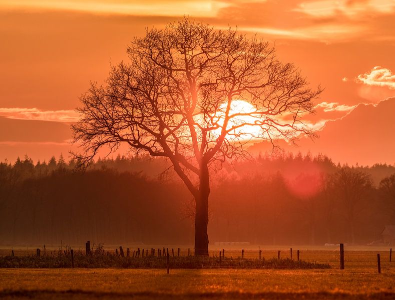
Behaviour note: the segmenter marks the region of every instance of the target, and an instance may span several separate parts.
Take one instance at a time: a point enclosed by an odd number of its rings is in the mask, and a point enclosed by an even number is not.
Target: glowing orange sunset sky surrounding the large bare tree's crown
[[[145,27],[183,15],[258,32],[325,88],[305,116],[320,138],[286,150],[395,163],[395,0],[0,0],[0,160],[67,156],[89,82]]]

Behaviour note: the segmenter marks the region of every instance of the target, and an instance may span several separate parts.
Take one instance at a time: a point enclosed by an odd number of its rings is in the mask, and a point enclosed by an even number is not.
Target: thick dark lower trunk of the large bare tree
[[[195,256],[208,255],[208,196],[210,194],[210,178],[207,165],[202,166],[199,193],[195,197]]]

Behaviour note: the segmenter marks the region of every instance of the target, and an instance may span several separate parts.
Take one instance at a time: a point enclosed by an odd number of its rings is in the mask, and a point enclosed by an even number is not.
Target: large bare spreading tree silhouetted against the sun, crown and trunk
[[[130,61],[113,66],[104,86],[81,96],[73,131],[84,150],[76,155],[87,162],[103,146],[127,143],[167,157],[195,199],[195,255],[208,255],[210,167],[244,156],[250,139],[313,134],[301,117],[321,89],[308,88],[268,42],[188,18],[147,29],[127,52]]]

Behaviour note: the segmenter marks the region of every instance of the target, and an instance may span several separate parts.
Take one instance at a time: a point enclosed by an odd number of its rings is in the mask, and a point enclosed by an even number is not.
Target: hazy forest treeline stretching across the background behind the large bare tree
[[[193,244],[193,199],[166,161],[0,163],[0,244]],[[213,171],[210,242],[367,243],[395,224],[395,167],[260,156]]]

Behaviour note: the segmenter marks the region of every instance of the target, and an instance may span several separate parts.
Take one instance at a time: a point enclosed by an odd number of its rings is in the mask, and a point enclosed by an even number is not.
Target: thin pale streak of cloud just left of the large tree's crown
[[[75,110],[41,110],[38,108],[0,108],[0,116],[11,119],[76,122],[79,115]]]

